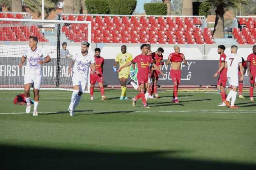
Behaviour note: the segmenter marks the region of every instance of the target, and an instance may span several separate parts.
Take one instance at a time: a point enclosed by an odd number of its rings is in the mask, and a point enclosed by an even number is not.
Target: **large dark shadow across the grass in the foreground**
[[[182,150],[108,152],[0,145],[3,170],[250,170],[256,164],[181,158]]]

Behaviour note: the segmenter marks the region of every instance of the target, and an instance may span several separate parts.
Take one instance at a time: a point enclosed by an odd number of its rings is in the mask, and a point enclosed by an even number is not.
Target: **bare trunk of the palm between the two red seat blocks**
[[[216,10],[216,18],[214,24],[214,30],[212,32],[213,38],[224,38],[224,14],[225,8],[224,5],[220,4],[217,6]]]

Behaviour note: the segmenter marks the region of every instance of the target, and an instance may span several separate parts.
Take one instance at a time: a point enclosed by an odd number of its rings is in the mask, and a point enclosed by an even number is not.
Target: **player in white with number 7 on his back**
[[[242,57],[237,54],[237,49],[238,47],[236,45],[232,45],[231,54],[228,55],[225,59],[225,67],[228,68],[228,71],[227,71],[228,82],[231,87],[231,90],[228,93],[225,103],[227,106],[230,106],[230,109],[239,109],[237,106],[235,106],[236,93],[237,93],[237,87],[238,87],[238,67],[240,68],[240,72],[241,72],[240,81],[243,81],[244,79]],[[230,99],[231,99],[231,105],[229,105]]]

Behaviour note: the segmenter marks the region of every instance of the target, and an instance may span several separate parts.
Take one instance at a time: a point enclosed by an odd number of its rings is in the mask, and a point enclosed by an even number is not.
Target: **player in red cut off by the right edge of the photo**
[[[250,77],[250,101],[254,102],[253,99],[253,88],[255,84],[256,77],[256,45],[252,47],[252,53],[248,55],[247,59],[247,68]]]

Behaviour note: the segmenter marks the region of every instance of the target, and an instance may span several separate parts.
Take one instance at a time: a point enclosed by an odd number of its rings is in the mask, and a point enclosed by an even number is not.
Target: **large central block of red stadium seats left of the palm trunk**
[[[92,42],[100,43],[207,43],[214,39],[210,28],[202,32],[200,18],[141,16],[62,16],[64,20],[92,22]],[[62,32],[70,41],[84,40],[86,26],[70,24]]]

